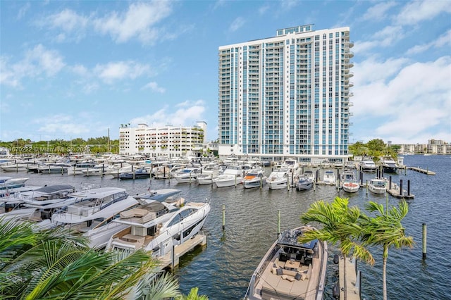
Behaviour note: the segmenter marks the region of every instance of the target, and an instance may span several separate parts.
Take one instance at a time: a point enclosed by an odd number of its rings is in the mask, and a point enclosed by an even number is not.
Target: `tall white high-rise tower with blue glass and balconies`
[[[220,46],[219,155],[347,157],[352,46],[349,27],[312,25]]]

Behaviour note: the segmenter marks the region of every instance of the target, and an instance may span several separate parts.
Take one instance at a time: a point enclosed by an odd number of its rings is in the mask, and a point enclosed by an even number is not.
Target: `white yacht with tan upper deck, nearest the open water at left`
[[[180,191],[172,193],[174,197]],[[123,211],[120,218],[113,221],[127,227],[111,237],[106,250],[144,249],[152,251],[154,258],[164,256],[173,251],[173,246],[197,235],[211,209],[210,204],[204,202],[189,202],[180,207],[180,202],[168,201],[164,196],[157,199],[152,193],[138,201],[140,206]]]

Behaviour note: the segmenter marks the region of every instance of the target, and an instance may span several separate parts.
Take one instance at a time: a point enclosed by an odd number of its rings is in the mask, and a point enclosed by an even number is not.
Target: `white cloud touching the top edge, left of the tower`
[[[172,12],[170,1],[152,1],[131,4],[126,13],[113,12],[94,20],[94,28],[109,34],[118,43],[137,38],[144,44],[152,44],[161,38],[161,30],[154,27]]]

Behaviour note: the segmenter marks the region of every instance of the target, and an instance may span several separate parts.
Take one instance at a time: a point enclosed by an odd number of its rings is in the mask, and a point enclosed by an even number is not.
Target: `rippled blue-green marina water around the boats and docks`
[[[387,268],[388,299],[451,299],[451,249],[448,220],[451,215],[451,158],[450,156],[405,156],[404,164],[435,171],[424,175],[407,170],[407,175],[392,175],[393,182],[411,181],[415,199],[409,200],[409,213],[402,224],[407,235],[414,237],[413,249],[390,249]],[[266,173],[270,173],[270,169]],[[175,180],[118,181],[111,177],[82,177],[80,175],[38,175],[6,173],[17,177],[30,177],[28,185],[71,184],[80,187],[82,182],[102,187],[124,187],[130,194],[152,189],[173,187],[181,189],[187,201],[209,199],[211,213],[204,225],[207,246],[195,249],[180,261],[175,274],[180,279],[180,289],[187,294],[191,287],[199,287],[199,294],[209,299],[242,299],[249,279],[261,257],[277,237],[277,216],[280,211],[281,229],[300,225],[299,215],[314,201],[332,201],[335,196],[350,197],[350,204],[364,206],[366,201],[385,204],[384,195],[337,192],[334,187],[318,186],[304,192],[295,189],[270,191],[238,187],[216,188],[209,185],[177,184]],[[364,174],[364,181],[374,174]],[[399,202],[389,196],[388,203]],[[226,206],[226,230],[222,230],[222,206]],[[428,225],[427,259],[422,260],[421,225]],[[329,245],[328,282],[325,299],[333,299],[332,287],[337,280],[338,267],[333,265],[336,247]],[[371,249],[376,265],[359,264],[362,270],[362,296],[381,299],[382,251]]]

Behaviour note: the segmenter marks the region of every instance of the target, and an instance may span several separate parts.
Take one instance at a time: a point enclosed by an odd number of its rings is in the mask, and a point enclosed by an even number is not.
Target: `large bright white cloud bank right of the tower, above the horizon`
[[[451,129],[451,56],[426,63],[368,60],[356,69],[365,78],[354,89],[352,112],[365,120],[367,135],[418,142],[437,128]]]

